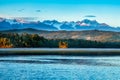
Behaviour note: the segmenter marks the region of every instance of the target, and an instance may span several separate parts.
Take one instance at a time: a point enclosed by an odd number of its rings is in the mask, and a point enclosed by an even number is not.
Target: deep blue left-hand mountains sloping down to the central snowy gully
[[[42,22],[23,22],[16,19],[0,20],[0,30],[26,29],[33,28],[37,30],[58,30],[54,26],[46,25]]]

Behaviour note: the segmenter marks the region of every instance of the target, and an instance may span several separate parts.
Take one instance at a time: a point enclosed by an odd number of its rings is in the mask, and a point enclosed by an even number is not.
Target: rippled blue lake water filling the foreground
[[[120,80],[120,56],[1,56],[0,80]]]

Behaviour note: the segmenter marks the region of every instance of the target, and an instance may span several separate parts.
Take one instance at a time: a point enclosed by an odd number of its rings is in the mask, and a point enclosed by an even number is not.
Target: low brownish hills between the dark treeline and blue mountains
[[[38,34],[46,39],[83,39],[100,42],[120,42],[120,32],[111,31],[43,31],[35,29],[21,29],[21,30],[8,30],[1,31],[1,33],[28,33]]]

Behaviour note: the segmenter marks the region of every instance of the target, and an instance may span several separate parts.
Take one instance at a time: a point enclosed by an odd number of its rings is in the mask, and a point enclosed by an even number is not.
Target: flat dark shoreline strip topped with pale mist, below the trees
[[[120,55],[119,48],[0,48],[0,55]]]

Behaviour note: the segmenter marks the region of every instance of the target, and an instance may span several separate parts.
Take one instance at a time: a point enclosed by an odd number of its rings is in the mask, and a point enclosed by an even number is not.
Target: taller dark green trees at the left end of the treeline
[[[38,36],[37,34],[17,34],[17,33],[8,33],[2,34],[0,33],[0,39],[7,39],[9,44],[12,44],[14,48],[21,48],[21,47],[43,47],[43,44],[46,42],[46,39],[43,37]],[[4,41],[0,42],[0,45],[6,43]],[[9,45],[6,44],[6,45]],[[3,45],[4,46],[4,45]]]

